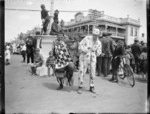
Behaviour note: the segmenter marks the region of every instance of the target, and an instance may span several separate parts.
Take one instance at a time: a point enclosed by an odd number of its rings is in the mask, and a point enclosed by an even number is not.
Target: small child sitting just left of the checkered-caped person
[[[48,68],[48,75],[50,76],[51,74],[51,69],[53,70],[52,76],[54,76],[54,56],[52,51],[49,52],[49,57],[46,60],[46,66]]]

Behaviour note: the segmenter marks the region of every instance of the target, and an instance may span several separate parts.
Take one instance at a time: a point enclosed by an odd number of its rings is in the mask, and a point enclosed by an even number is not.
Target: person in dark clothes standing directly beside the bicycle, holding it
[[[124,55],[125,49],[124,49],[124,43],[123,41],[119,40],[117,42],[117,46],[115,47],[114,53],[113,53],[113,59],[112,59],[112,78],[110,81],[112,82],[118,82],[118,70],[119,65],[121,63],[121,57]]]

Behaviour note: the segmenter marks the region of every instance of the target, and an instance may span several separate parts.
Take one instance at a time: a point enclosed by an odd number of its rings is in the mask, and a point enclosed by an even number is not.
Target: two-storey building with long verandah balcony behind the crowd
[[[77,31],[89,35],[92,33],[93,26],[94,22],[90,15],[83,16],[83,13],[78,12],[74,19],[65,23],[64,29],[66,32]],[[127,18],[116,18],[103,14],[96,18],[96,26],[101,32],[111,33],[114,40],[121,39],[125,40],[127,44],[132,44],[134,38],[139,37],[140,20],[131,19],[129,16]]]

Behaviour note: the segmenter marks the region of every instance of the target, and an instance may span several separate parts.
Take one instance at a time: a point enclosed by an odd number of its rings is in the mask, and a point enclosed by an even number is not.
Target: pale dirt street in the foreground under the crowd
[[[56,90],[56,77],[31,76],[21,55],[12,55],[11,65],[5,67],[5,109],[10,113],[95,112],[95,113],[144,113],[147,101],[147,83],[135,76],[132,88],[127,80],[117,83],[107,78],[96,77],[96,94],[89,89],[89,76],[85,77],[84,91],[76,92],[78,72],[74,73],[73,87]]]

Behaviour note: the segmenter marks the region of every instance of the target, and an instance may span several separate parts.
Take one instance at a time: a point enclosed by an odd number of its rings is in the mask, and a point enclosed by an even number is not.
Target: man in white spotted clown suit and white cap
[[[78,86],[78,93],[82,93],[83,88],[83,78],[86,75],[86,71],[88,68],[89,75],[90,75],[90,91],[95,93],[94,89],[94,78],[95,78],[95,71],[96,71],[96,57],[101,54],[101,42],[98,40],[98,35],[100,34],[99,29],[94,28],[92,36],[86,36],[80,43],[79,43],[79,62],[80,62],[80,73],[79,73],[79,86]]]

